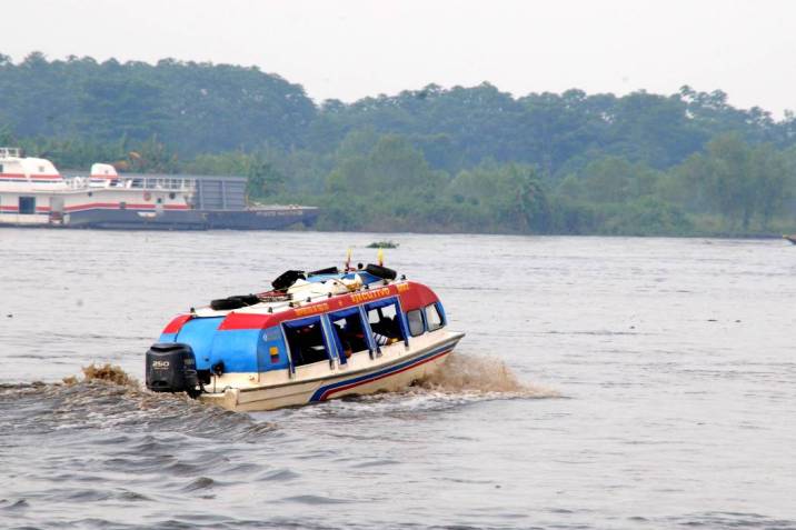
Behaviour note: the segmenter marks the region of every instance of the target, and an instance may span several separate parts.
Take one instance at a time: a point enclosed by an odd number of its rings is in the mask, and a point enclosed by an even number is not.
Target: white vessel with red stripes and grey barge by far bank
[[[206,230],[310,223],[311,207],[248,208],[242,177],[117,173],[94,163],[62,176],[49,160],[0,148],[0,226]]]

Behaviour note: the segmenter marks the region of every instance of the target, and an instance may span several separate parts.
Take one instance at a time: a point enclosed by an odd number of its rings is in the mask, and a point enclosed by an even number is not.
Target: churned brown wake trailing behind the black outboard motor
[[[168,431],[246,441],[275,429],[273,423],[208,407],[181,393],[148,392],[110,364],[90,364],[82,378],[68,377],[60,383],[0,384],[0,412],[14,429],[31,431]]]

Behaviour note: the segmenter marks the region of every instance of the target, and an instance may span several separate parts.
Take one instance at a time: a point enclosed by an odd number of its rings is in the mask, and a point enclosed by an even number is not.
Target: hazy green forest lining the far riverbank
[[[322,230],[796,231],[796,117],[688,86],[316,103],[253,67],[0,54],[0,144],[61,169],[246,176],[252,201],[321,207]]]

